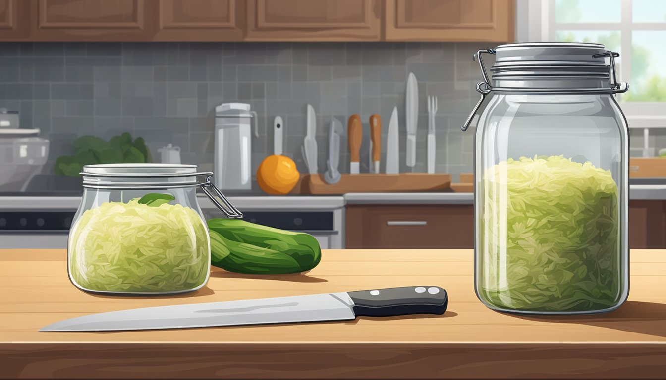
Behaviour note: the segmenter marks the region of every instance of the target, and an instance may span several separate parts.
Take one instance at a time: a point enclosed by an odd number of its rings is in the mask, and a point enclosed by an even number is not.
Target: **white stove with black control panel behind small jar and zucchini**
[[[223,217],[206,196],[197,198],[206,219]],[[306,232],[322,249],[344,248],[342,196],[230,196],[228,200],[248,222]],[[0,194],[0,248],[67,248],[80,203],[81,196]]]

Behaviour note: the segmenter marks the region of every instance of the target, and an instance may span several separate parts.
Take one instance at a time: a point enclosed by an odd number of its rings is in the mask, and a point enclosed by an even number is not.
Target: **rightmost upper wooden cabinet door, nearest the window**
[[[387,41],[513,41],[513,0],[386,0]]]

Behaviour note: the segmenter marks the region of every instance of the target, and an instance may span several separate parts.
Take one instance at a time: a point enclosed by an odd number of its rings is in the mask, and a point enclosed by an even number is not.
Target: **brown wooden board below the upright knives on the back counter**
[[[333,195],[348,192],[434,192],[451,188],[451,174],[342,174],[327,184],[323,174],[304,174],[292,194]],[[296,193],[298,192],[298,193]]]

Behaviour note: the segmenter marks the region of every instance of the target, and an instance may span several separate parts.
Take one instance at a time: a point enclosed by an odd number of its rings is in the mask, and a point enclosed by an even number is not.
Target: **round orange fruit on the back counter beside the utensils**
[[[268,194],[289,194],[298,178],[300,173],[296,169],[296,162],[278,154],[264,158],[256,170],[256,182]]]

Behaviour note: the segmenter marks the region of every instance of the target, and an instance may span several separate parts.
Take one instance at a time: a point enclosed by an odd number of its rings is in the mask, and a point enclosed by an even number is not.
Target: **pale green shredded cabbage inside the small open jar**
[[[86,210],[69,240],[69,272],[92,291],[162,293],[196,289],[208,278],[208,230],[180,204],[106,202]]]

